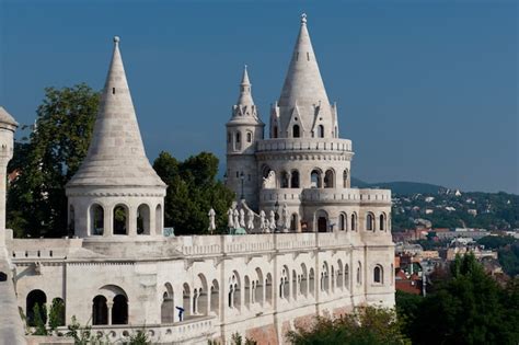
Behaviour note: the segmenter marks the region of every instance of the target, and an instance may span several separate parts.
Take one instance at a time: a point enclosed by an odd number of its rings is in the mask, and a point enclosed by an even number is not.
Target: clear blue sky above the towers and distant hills
[[[0,104],[32,124],[45,87],[101,89],[120,48],[150,160],[212,151],[249,65],[267,122],[309,30],[353,174],[519,194],[516,1],[0,0]]]

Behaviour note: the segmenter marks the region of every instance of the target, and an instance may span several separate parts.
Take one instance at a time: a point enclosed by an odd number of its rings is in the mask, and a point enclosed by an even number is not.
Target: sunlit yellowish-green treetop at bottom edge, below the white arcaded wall
[[[366,307],[339,319],[321,318],[310,329],[296,327],[287,333],[295,345],[401,345],[411,344],[391,309]]]

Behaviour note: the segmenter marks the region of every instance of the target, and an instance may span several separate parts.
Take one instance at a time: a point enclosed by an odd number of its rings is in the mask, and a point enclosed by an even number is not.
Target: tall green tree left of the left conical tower
[[[18,237],[67,234],[65,184],[79,169],[92,136],[99,93],[86,84],[45,89],[27,142],[15,146],[8,192],[8,227]]]

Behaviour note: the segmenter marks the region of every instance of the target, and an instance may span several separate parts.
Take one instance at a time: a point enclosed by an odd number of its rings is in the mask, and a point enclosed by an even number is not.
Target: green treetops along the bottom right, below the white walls
[[[518,344],[519,279],[501,286],[472,254],[436,275],[427,297],[396,291],[396,310],[360,308],[288,333],[296,345]],[[441,278],[439,278],[441,277]]]

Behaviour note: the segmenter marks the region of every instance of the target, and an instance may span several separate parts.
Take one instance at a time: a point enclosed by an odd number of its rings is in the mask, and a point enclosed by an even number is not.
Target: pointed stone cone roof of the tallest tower
[[[284,129],[281,136],[289,131],[287,126],[296,106],[300,113],[300,120],[309,129],[303,136],[311,136],[318,123],[325,124],[330,128],[333,126],[328,96],[313,51],[304,13],[301,15],[299,35],[277,106]]]

